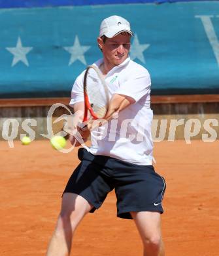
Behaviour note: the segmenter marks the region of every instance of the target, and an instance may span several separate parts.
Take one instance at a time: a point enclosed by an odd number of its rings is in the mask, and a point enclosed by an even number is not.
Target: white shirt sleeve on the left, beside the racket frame
[[[71,100],[69,102],[70,106],[72,106],[77,102],[84,101],[83,79],[84,79],[84,72],[80,74],[75,80],[73,89],[71,90]]]

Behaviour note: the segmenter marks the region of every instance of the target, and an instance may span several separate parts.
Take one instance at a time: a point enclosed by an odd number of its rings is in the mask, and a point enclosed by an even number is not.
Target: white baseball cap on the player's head
[[[101,22],[99,37],[105,35],[112,38],[122,32],[128,32],[133,35],[129,22],[120,16],[113,15]]]

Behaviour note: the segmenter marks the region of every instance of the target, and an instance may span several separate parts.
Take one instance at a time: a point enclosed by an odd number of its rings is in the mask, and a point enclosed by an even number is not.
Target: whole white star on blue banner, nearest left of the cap
[[[71,58],[69,60],[69,66],[73,64],[76,60],[80,60],[84,65],[86,65],[86,60],[84,58],[84,53],[90,49],[90,46],[82,46],[80,45],[80,41],[78,39],[78,36],[75,37],[75,43],[71,47],[63,47],[65,51],[69,52],[71,54]]]

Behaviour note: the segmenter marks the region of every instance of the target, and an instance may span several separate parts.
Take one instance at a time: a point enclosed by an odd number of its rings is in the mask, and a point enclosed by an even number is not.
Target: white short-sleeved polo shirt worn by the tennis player
[[[103,59],[93,65],[100,66]],[[80,74],[71,92],[70,105],[84,101],[84,72]],[[110,156],[138,165],[152,164],[153,142],[151,125],[153,112],[150,109],[150,74],[141,65],[127,58],[105,76],[110,96],[121,94],[135,100],[118,116],[94,129],[92,146],[87,150],[94,155]]]

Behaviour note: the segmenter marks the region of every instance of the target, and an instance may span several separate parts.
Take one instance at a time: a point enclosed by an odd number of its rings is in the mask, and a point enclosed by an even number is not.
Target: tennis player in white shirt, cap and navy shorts
[[[152,165],[150,75],[129,58],[131,36],[129,22],[120,16],[110,16],[101,23],[97,43],[103,58],[93,65],[101,70],[109,87],[109,122],[98,127],[105,136],[97,137],[91,131],[92,145],[78,150],[81,162],[63,192],[47,256],[70,254],[76,227],[113,189],[117,216],[135,221],[143,240],[143,255],[164,255],[161,213],[165,181]],[[73,85],[70,104],[75,112],[84,110],[83,78],[84,72]],[[78,131],[86,140],[91,129]],[[79,144],[73,136],[70,140]]]

